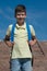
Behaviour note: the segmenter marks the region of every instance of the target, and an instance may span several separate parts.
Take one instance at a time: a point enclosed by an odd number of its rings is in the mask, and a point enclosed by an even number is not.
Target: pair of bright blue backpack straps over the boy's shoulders
[[[11,37],[10,40],[13,42],[14,40],[14,27],[15,27],[15,23],[12,26],[12,31],[11,31]],[[32,39],[32,34],[31,34],[31,28],[30,25],[26,23],[26,29],[27,29],[27,35],[28,35],[28,42]]]

